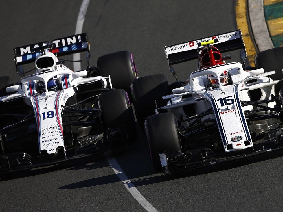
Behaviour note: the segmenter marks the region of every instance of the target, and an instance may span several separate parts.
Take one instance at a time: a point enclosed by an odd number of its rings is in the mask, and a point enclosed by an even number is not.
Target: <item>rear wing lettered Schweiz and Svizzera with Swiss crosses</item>
[[[245,49],[242,32],[240,29],[237,29],[235,31],[230,31],[223,34],[200,38],[198,40],[191,40],[184,43],[165,46],[164,50],[168,60],[169,69],[172,64],[197,59],[199,55],[199,50],[202,48],[202,46],[198,46],[198,43],[213,39],[218,39],[218,42],[213,45],[218,48],[221,53],[236,49],[242,49],[240,56],[242,59],[242,63],[245,66],[247,52]]]

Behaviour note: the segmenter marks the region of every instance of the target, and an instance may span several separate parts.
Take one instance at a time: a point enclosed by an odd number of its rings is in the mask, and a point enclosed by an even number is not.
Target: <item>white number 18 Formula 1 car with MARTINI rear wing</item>
[[[73,72],[58,57],[87,51],[87,70]],[[14,48],[13,84],[1,77],[0,174],[102,153],[136,137],[126,91],[137,78],[128,51],[89,67],[86,33]],[[35,74],[21,65],[35,62]],[[114,89],[115,85],[117,89]],[[126,90],[126,91],[125,91]]]

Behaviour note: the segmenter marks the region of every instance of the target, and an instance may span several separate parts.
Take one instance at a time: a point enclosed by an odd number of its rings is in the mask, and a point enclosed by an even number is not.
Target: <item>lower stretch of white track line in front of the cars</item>
[[[106,155],[106,154],[105,154]],[[133,185],[133,183],[129,180],[129,178],[126,176],[120,165],[117,163],[114,157],[110,155],[106,155],[108,163],[111,165],[111,168],[115,172],[115,174],[119,177],[120,181],[124,184],[126,189],[131,193],[131,195],[137,200],[139,204],[141,204],[146,211],[157,211],[155,207],[150,204],[144,196],[142,196],[141,193],[136,189],[136,187]]]

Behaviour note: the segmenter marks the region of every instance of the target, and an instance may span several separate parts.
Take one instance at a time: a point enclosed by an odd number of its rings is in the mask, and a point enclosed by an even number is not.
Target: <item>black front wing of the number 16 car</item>
[[[255,144],[245,150],[222,153],[218,155],[208,147],[196,148],[182,153],[169,150],[159,154],[164,174],[186,172],[196,168],[207,167],[228,161],[245,161],[265,153],[272,156],[275,151],[283,150],[283,129],[279,128],[267,133],[262,143]]]

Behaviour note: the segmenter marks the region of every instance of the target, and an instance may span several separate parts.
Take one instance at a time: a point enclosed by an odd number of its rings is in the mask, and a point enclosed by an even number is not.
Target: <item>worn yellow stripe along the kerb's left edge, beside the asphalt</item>
[[[249,60],[251,66],[255,66],[254,57],[256,55],[256,49],[253,45],[253,42],[251,41],[251,37],[249,34],[246,7],[247,5],[245,0],[238,0],[236,2],[236,21],[238,29],[242,31],[242,36],[247,51],[247,59]]]

